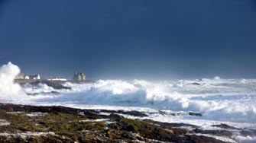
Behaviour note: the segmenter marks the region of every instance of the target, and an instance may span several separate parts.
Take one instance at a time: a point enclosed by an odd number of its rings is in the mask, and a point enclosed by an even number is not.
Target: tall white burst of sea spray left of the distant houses
[[[25,96],[21,86],[14,83],[15,76],[20,71],[20,68],[11,62],[0,68],[0,102],[22,100]]]

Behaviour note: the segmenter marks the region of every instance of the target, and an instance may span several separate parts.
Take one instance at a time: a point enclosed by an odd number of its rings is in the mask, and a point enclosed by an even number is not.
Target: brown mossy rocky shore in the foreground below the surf
[[[189,124],[126,119],[122,114],[147,116],[138,111],[80,110],[63,106],[0,103],[0,142],[213,143],[224,141],[203,134],[232,135],[225,130],[203,130]],[[181,128],[184,126],[194,129]]]

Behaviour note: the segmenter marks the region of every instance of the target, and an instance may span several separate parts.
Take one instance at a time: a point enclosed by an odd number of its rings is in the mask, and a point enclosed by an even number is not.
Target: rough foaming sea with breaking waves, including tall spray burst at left
[[[83,110],[138,111],[147,116],[118,113],[128,119],[183,123],[206,130],[228,130],[232,135],[207,135],[227,142],[256,141],[256,79],[134,79],[63,82],[56,89],[44,82],[18,84],[20,72],[8,63],[0,68],[1,103],[33,106],[66,106]],[[106,115],[109,113],[101,113]],[[232,128],[223,129],[219,125]],[[193,126],[183,126],[193,130]],[[249,132],[243,134],[241,132]],[[200,134],[200,133],[195,133]]]

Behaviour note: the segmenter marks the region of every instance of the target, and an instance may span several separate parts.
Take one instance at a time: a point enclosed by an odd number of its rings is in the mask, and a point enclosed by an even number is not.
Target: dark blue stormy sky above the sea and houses
[[[72,78],[256,78],[254,0],[0,0],[0,64]]]

